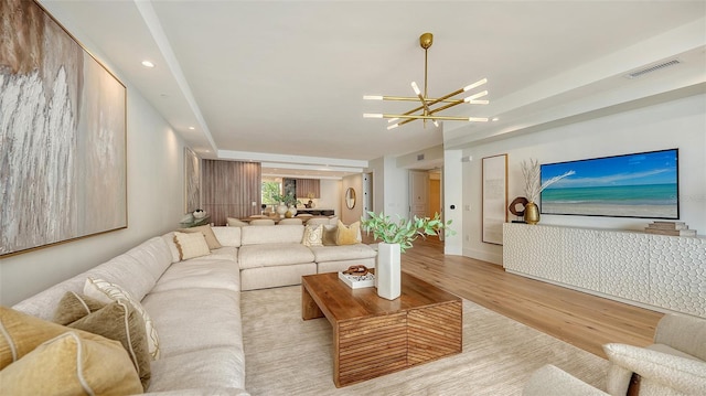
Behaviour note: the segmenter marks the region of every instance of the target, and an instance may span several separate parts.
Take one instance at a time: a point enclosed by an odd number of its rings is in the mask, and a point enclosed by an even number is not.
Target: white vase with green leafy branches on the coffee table
[[[361,227],[368,234],[372,232],[377,244],[377,263],[375,266],[375,285],[377,296],[394,300],[400,293],[400,254],[413,247],[418,237],[439,235],[441,231],[446,235],[456,233],[449,228],[451,221],[443,223],[436,213],[432,218],[414,216],[411,220],[399,218],[394,222],[384,213],[368,212],[368,218],[361,218]]]

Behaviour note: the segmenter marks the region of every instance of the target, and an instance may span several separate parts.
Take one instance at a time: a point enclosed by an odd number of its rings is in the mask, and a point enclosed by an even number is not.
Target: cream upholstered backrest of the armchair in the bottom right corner
[[[665,344],[706,361],[706,320],[667,313],[657,323],[655,344]]]

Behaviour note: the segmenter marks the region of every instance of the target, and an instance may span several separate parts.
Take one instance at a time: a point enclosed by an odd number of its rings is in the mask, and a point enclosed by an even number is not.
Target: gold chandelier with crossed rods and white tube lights
[[[471,85],[467,85],[466,87],[454,90],[450,94],[443,95],[438,98],[430,98],[427,96],[427,52],[434,42],[434,35],[431,33],[424,33],[419,36],[419,45],[424,49],[424,95],[417,83],[411,82],[411,88],[414,89],[417,96],[413,97],[404,97],[404,96],[382,96],[382,95],[365,95],[363,99],[365,100],[398,100],[398,101],[419,101],[421,105],[407,111],[404,114],[371,114],[365,113],[363,117],[365,118],[389,118],[388,122],[391,124],[387,129],[397,128],[402,125],[411,122],[417,119],[421,119],[425,122],[425,127],[427,120],[434,121],[434,125],[439,127],[438,121],[474,121],[474,122],[486,122],[488,118],[483,117],[453,117],[453,116],[440,116],[438,113],[443,111],[448,108],[451,108],[456,105],[460,105],[462,103],[467,103],[470,105],[488,105],[489,100],[479,99],[488,95],[488,90],[480,92],[478,94],[473,94],[463,99],[453,99],[454,96],[460,95],[464,92],[477,88],[485,83],[488,79],[483,78],[478,81]],[[437,106],[438,107],[434,107]],[[420,111],[419,114],[416,114]],[[402,120],[400,120],[402,119]],[[393,124],[395,122],[395,124]]]

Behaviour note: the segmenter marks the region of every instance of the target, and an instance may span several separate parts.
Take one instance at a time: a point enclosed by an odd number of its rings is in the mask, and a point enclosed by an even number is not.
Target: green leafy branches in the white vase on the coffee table
[[[451,221],[447,223],[441,221],[438,213],[434,217],[417,217],[402,218],[393,221],[389,216],[386,216],[383,212],[375,214],[374,212],[367,212],[370,218],[361,218],[361,227],[363,231],[373,233],[375,239],[379,239],[386,244],[399,244],[399,250],[405,251],[413,247],[413,243],[418,237],[426,237],[427,235],[439,235],[442,231],[446,235],[454,235],[456,232],[449,228]]]

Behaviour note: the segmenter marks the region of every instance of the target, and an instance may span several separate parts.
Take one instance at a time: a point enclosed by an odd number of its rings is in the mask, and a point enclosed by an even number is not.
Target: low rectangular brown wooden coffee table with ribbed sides
[[[351,289],[336,272],[301,278],[301,317],[325,317],[333,328],[336,387],[371,379],[461,352],[459,297],[402,274],[402,296]]]

